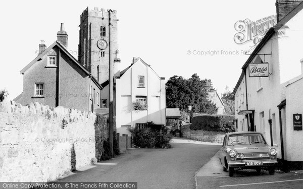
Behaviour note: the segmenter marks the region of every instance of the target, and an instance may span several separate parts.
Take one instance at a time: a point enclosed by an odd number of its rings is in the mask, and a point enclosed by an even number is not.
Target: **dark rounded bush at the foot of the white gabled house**
[[[128,129],[133,138],[133,144],[140,148],[170,148],[169,144],[172,135],[167,133],[166,128],[153,129],[148,127],[145,129],[130,128]]]

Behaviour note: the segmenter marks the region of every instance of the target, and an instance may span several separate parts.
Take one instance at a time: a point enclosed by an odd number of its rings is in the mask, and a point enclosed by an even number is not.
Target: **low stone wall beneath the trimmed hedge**
[[[223,139],[226,133],[213,132],[213,131],[203,131],[203,130],[190,130],[190,124],[182,126],[182,137],[186,139],[191,139],[194,141],[202,142],[212,142],[223,144]]]

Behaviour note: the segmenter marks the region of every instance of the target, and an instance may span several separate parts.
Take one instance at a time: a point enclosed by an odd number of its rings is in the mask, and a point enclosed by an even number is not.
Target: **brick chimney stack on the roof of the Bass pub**
[[[288,15],[292,10],[294,10],[302,0],[277,0],[276,10],[277,10],[277,22],[280,22],[286,15]]]

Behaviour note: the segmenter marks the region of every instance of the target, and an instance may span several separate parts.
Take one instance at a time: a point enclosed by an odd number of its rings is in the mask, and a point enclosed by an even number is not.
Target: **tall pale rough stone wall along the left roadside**
[[[0,180],[53,181],[100,157],[107,116],[0,102]]]

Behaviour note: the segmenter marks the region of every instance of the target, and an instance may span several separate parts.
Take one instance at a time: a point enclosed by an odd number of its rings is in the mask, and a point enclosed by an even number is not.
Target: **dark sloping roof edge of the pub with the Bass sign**
[[[291,20],[296,14],[298,14],[303,9],[303,2],[300,3],[295,9],[293,9],[288,15],[286,15],[282,20],[280,20],[275,26],[271,27],[268,32],[265,34],[263,39],[257,45],[255,50],[250,54],[248,59],[246,60],[245,64],[242,66],[242,74],[233,90],[233,94],[237,91],[241,81],[244,78],[243,70],[245,70],[249,64],[249,62],[254,59],[255,55],[263,48],[263,46],[271,39],[271,37],[281,29],[289,20]]]

